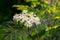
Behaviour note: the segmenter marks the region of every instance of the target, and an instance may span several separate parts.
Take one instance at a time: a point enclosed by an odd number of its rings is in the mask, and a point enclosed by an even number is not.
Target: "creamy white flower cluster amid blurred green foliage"
[[[15,14],[13,20],[16,20],[17,22],[21,20],[21,22],[25,22],[24,25],[27,27],[31,27],[33,23],[36,25],[41,24],[39,17],[33,12],[29,14],[27,10],[23,10],[20,14]]]

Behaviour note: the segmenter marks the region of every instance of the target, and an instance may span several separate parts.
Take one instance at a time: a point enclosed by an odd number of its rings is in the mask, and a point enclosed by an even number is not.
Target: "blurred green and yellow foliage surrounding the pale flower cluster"
[[[13,22],[22,10],[41,19],[39,28]],[[0,40],[60,40],[60,0],[0,0]]]

